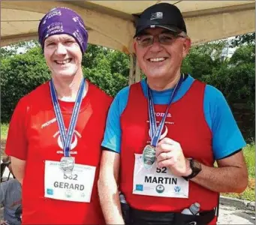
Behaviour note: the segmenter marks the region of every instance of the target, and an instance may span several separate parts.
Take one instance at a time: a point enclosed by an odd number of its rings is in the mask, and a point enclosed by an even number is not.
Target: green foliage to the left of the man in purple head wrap
[[[39,47],[30,49],[25,54],[3,58],[1,73],[2,121],[10,120],[20,98],[50,78]]]

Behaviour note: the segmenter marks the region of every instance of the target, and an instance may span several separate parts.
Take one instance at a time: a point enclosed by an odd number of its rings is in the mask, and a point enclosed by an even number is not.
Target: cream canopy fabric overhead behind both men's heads
[[[53,7],[83,17],[89,43],[133,52],[134,17],[160,2],[182,11],[193,44],[255,31],[255,1],[2,1],[1,46],[38,38],[38,23]]]

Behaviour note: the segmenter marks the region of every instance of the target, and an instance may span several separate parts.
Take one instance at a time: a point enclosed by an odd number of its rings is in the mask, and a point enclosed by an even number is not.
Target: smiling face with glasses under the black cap
[[[154,42],[149,46],[140,42],[140,40],[147,40],[143,39],[147,34],[154,36]],[[159,42],[159,34],[162,43]],[[140,40],[135,39],[134,49],[137,60],[146,77],[167,78],[179,71],[182,59],[188,54],[191,41],[188,37],[179,36],[173,40],[168,39],[174,37],[172,34],[165,28],[147,28],[138,38]]]

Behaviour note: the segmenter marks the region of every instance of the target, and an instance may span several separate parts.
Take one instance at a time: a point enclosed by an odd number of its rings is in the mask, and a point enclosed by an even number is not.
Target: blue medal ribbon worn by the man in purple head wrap
[[[53,85],[53,80],[50,80],[50,95],[52,97],[52,102],[53,102],[53,107],[54,107],[54,112],[56,115],[56,119],[58,122],[58,126],[59,126],[59,133],[62,139],[62,145],[63,145],[63,150],[64,150],[64,156],[65,157],[70,157],[71,156],[71,139],[74,135],[74,128],[76,127],[77,124],[77,118],[78,118],[78,114],[80,111],[80,107],[82,104],[82,100],[83,100],[83,92],[85,90],[85,80],[83,79],[81,84],[80,84],[80,88],[77,92],[77,98],[74,104],[74,109],[71,115],[71,121],[69,123],[68,126],[68,135],[66,133],[66,129],[65,129],[65,124],[63,121],[63,117],[62,117],[62,112],[61,109],[59,107],[59,102],[58,102],[58,98],[56,95],[56,89],[54,88]]]

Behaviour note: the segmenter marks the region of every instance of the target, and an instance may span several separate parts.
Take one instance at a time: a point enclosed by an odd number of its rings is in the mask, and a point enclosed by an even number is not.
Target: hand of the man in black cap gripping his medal
[[[191,174],[188,159],[185,158],[179,142],[165,137],[155,148],[158,168],[168,167],[173,175],[187,176]]]

